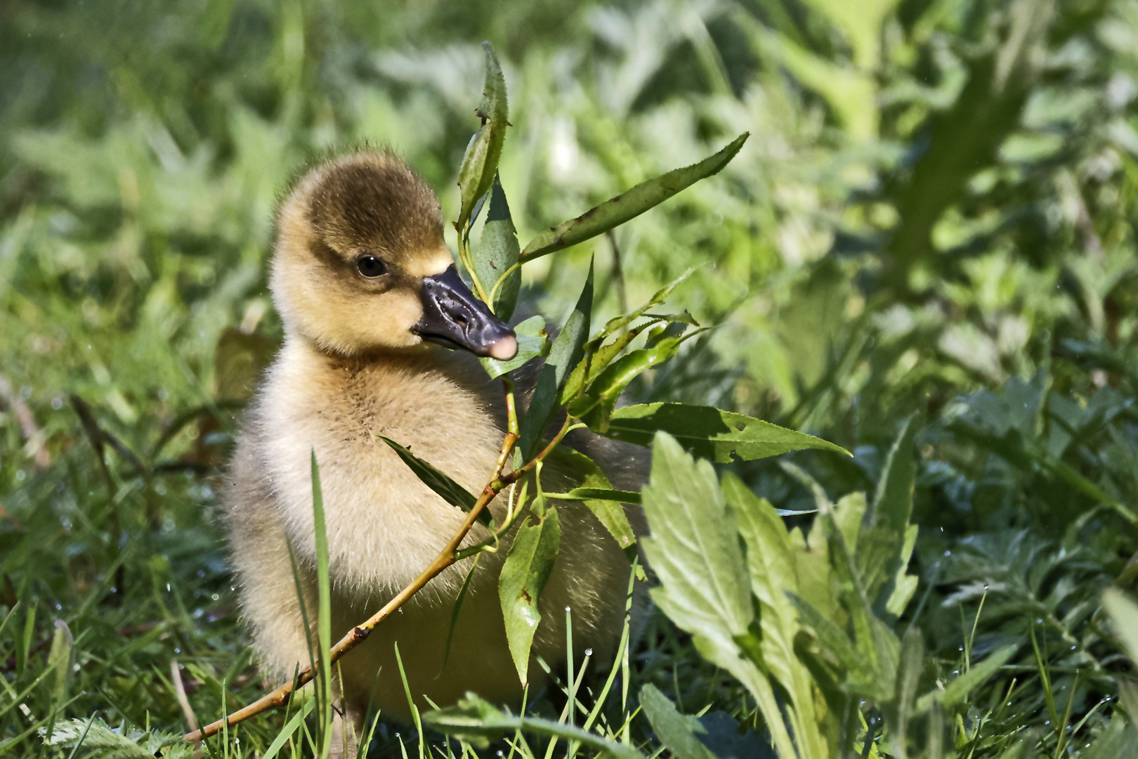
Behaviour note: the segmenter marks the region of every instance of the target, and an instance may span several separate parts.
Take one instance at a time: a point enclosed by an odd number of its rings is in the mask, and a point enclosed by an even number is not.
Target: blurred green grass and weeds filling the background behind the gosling
[[[1030,645],[990,690],[1017,677],[1003,719],[1045,742],[1055,708],[1119,693],[1098,597],[1138,575],[1138,2],[7,0],[0,611],[22,603],[0,752],[46,751],[34,731],[64,713],[184,728],[174,659],[199,719],[258,692],[209,478],[280,337],[274,203],[368,142],[453,218],[484,39],[523,240],[751,132],[715,179],[527,266],[530,311],[559,319],[589,256],[599,319],[706,264],[671,303],[718,329],[636,399],[843,445],[853,460],[791,456],[833,494],[872,488],[915,415],[906,622],[946,671],[986,594],[975,651],[1032,628],[1058,703]],[[800,472],[731,469],[813,503]],[[66,698],[38,680],[55,619],[75,636]],[[754,719],[666,620],[638,657],[688,710]]]

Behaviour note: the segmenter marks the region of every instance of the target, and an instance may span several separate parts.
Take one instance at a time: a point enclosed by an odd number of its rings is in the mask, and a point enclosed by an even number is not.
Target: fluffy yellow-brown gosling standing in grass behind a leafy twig
[[[311,452],[322,482],[335,642],[414,579],[464,518],[377,436],[480,492],[502,444],[505,403],[501,382],[476,357],[511,358],[517,339],[459,278],[435,193],[390,152],[356,152],[308,172],[281,205],[275,234],[270,288],[284,343],[246,412],[223,503],[254,647],[266,675],[286,680],[313,650],[300,607],[303,597],[314,634]],[[637,488],[642,471],[627,451],[607,451],[616,456],[615,486]],[[556,478],[547,467],[543,486],[552,490]],[[490,503],[500,520],[505,497]],[[594,662],[611,660],[624,624],[624,552],[584,504],[558,509],[561,551],[538,603],[531,691],[547,679],[536,657],[552,667],[566,657],[564,608],[577,662],[586,649]],[[637,511],[628,515],[642,523]],[[465,544],[486,537],[476,525]],[[448,657],[469,561],[436,577],[341,660],[337,695],[357,735],[369,704],[410,719],[396,644],[418,708],[429,708],[428,699],[454,703],[468,691],[517,708],[522,686],[497,594],[504,555],[480,558]]]

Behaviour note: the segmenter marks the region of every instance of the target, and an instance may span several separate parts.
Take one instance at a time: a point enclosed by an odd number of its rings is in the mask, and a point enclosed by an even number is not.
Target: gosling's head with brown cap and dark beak
[[[343,355],[423,340],[498,360],[518,349],[459,278],[435,193],[389,152],[336,158],[297,183],[270,287],[288,331]]]

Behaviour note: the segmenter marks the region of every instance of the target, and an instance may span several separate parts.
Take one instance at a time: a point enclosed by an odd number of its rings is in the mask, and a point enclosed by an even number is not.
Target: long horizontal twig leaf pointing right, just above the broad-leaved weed
[[[695,455],[719,463],[729,462],[733,455],[751,461],[803,448],[849,455],[841,446],[813,435],[795,432],[729,411],[681,403],[650,403],[617,409],[604,435],[626,443],[649,445],[658,430],[674,436]]]

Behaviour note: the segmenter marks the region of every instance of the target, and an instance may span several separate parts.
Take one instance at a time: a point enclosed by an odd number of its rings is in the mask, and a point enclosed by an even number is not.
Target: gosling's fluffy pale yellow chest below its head
[[[496,388],[479,371],[443,350],[355,361],[299,341],[282,350],[258,409],[274,505],[290,539],[312,544],[315,454],[332,575],[343,588],[402,586],[463,518],[378,436],[472,493],[486,484],[502,432]]]

